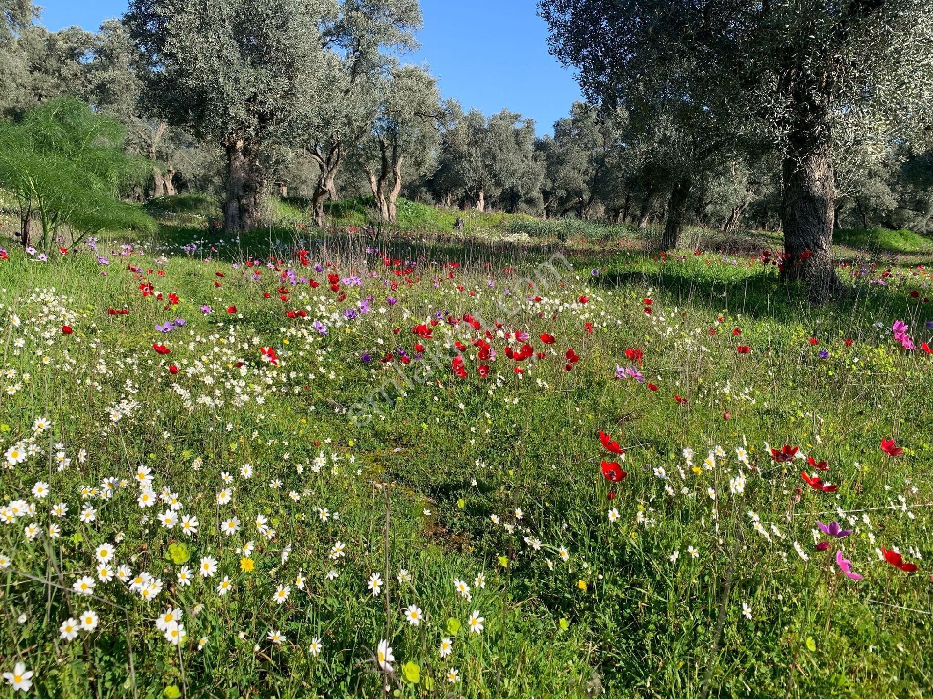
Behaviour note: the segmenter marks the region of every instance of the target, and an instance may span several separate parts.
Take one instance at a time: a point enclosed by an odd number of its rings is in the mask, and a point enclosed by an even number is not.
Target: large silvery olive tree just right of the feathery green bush
[[[228,231],[259,223],[262,147],[295,141],[312,116],[337,62],[322,34],[335,13],[329,0],[130,3],[124,21],[146,58],[146,102],[226,153]]]

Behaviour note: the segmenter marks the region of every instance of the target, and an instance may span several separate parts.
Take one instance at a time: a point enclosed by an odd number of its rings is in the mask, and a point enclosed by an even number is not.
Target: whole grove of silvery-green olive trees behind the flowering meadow
[[[399,196],[480,211],[785,233],[787,278],[834,293],[834,227],[933,231],[928,0],[541,0],[588,100],[553,134],[445,100],[404,62],[417,0],[132,0],[97,33],[0,0],[0,111],[63,95],[151,161],[128,198],[209,191],[228,231],[265,199]]]

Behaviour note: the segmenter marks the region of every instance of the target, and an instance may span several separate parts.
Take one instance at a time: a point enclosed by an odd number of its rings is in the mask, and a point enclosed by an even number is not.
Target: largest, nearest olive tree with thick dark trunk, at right
[[[786,279],[821,301],[832,258],[834,144],[909,139],[929,119],[928,0],[541,0],[551,49],[594,100],[659,99],[767,136],[780,153]]]

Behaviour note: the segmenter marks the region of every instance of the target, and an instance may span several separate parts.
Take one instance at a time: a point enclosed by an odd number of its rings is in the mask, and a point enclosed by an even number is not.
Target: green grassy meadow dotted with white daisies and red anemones
[[[928,696],[925,238],[345,208],[2,241],[0,696]]]

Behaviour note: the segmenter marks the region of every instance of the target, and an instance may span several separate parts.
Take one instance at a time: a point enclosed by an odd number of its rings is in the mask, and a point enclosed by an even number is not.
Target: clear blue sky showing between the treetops
[[[39,0],[42,23],[55,31],[77,24],[96,30],[119,17],[126,0]],[[425,28],[422,49],[410,63],[428,63],[445,97],[486,114],[503,107],[531,117],[537,133],[579,99],[577,82],[550,56],[547,26],[535,0],[421,0]]]

